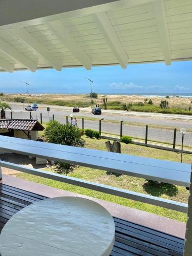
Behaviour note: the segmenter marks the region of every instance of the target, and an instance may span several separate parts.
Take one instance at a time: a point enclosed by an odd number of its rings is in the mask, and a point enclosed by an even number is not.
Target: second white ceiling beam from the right
[[[123,69],[126,68],[129,58],[124,51],[124,48],[110,22],[110,19],[105,12],[92,14],[92,17],[103,37],[105,38],[106,43],[112,49],[112,52],[118,60],[119,64]]]

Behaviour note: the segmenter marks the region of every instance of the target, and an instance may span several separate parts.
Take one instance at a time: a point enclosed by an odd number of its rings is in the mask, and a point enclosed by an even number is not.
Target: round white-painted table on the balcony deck
[[[113,217],[100,204],[57,197],[18,211],[0,235],[2,256],[109,255],[115,240]]]

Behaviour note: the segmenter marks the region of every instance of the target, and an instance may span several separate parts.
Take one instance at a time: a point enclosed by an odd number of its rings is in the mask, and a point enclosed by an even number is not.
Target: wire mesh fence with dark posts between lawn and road
[[[24,114],[24,113],[23,113]],[[30,119],[38,119],[41,123],[49,120],[56,120],[55,115],[42,116],[42,113],[25,113],[25,116]],[[10,113],[10,118],[14,118],[14,114]],[[165,149],[172,148],[173,151],[180,151],[182,146],[182,134],[178,129],[162,129],[150,127],[150,125],[139,126],[119,123],[103,122],[103,119],[98,121],[86,120],[84,118],[78,119],[78,126],[82,129],[93,129],[99,131],[100,135],[108,134],[111,139],[118,139],[121,136],[131,136],[134,142],[142,143],[143,145],[161,146]],[[58,120],[62,123],[71,122],[71,117],[66,116]],[[183,141],[183,150],[192,153],[192,133],[186,132]]]

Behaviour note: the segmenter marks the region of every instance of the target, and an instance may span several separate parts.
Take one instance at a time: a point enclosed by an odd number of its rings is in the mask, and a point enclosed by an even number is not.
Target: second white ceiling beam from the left
[[[20,64],[24,65],[27,69],[35,72],[36,63],[27,58],[23,53],[20,53],[13,46],[9,45],[8,42],[0,38],[0,50],[9,55],[11,58],[15,59]]]

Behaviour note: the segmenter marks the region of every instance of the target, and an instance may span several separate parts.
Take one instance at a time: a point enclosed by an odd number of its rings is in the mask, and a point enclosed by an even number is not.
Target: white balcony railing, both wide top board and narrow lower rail
[[[186,187],[189,187],[190,185],[190,164],[156,160],[98,150],[89,150],[87,148],[63,146],[6,136],[0,136],[0,150],[45,158],[54,161],[77,164],[91,168],[103,169],[113,173]],[[28,168],[0,160],[0,168],[1,166],[181,212],[187,212],[188,209],[188,205],[184,203],[148,196],[141,193],[136,193],[134,191],[106,186],[103,184],[80,180],[64,175],[49,173],[44,170]]]

